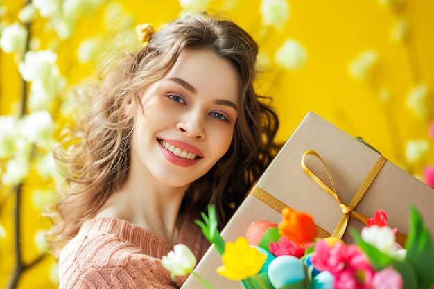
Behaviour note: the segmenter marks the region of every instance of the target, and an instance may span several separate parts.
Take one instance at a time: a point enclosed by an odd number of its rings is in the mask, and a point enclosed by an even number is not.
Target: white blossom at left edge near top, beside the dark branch
[[[0,47],[6,53],[21,53],[26,47],[28,32],[18,22],[3,28],[0,38]]]

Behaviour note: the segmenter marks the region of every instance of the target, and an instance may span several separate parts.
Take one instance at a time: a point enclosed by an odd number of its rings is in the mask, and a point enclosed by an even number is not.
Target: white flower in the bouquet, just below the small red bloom
[[[379,251],[394,255],[395,252],[395,236],[394,231],[387,226],[372,225],[370,227],[364,227],[361,231],[362,239]]]

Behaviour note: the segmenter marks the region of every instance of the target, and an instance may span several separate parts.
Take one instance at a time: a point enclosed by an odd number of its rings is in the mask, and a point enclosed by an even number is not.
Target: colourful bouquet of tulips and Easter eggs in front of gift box
[[[410,209],[410,234],[405,247],[395,243],[396,229],[388,226],[384,211],[368,219],[361,233],[352,230],[354,244],[339,238],[317,238],[309,214],[285,208],[277,225],[252,223],[234,243],[223,240],[216,212],[208,208],[202,231],[221,255],[218,274],[241,282],[245,289],[434,289],[434,254],[431,236],[417,209]],[[173,277],[194,274],[196,259],[185,245],[162,259]]]

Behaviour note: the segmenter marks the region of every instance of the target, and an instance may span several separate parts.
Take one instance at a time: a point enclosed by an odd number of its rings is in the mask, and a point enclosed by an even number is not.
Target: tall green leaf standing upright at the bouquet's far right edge
[[[415,269],[419,288],[430,289],[434,283],[433,243],[422,216],[413,206],[410,207],[410,234],[406,249],[406,262]]]

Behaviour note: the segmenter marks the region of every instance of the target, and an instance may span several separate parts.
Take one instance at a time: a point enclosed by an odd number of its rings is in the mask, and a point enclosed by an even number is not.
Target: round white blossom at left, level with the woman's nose
[[[53,119],[46,110],[32,112],[21,120],[20,134],[29,143],[42,146],[51,139]]]

